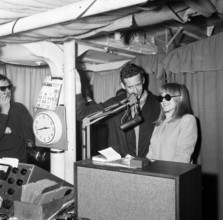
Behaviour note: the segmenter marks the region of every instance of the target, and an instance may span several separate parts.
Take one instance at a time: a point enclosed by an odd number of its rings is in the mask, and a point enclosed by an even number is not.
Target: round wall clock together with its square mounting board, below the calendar
[[[36,145],[55,149],[67,149],[65,108],[56,111],[34,109],[33,132]]]

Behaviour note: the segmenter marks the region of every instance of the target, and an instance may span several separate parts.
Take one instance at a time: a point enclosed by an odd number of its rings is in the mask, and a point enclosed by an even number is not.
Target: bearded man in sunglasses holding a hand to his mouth
[[[32,117],[26,107],[12,100],[13,85],[0,74],[0,158],[27,162],[27,144],[34,144]]]

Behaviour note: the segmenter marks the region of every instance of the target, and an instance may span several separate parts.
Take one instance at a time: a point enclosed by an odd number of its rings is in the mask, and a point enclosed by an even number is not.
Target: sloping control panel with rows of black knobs
[[[64,186],[72,186],[70,183],[32,164],[19,163],[18,167],[0,164],[0,197],[2,198],[0,213],[12,216],[14,211],[13,202],[20,201],[22,186],[42,179],[53,180]]]

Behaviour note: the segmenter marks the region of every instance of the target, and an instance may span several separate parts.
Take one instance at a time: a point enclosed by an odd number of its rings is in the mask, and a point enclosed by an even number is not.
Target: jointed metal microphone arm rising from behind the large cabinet
[[[91,143],[90,143],[90,125],[102,120],[103,118],[119,112],[128,105],[134,104],[130,101],[125,103],[127,99],[121,102],[108,106],[103,111],[98,111],[88,115],[82,120],[82,159],[85,160],[91,157]]]

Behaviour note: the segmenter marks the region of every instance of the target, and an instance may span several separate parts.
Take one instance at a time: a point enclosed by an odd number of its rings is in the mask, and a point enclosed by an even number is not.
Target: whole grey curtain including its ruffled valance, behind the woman
[[[202,166],[204,220],[223,219],[223,33],[175,49],[167,55],[140,55],[132,62],[150,76],[150,90],[167,82],[185,84],[199,128],[193,155]]]

